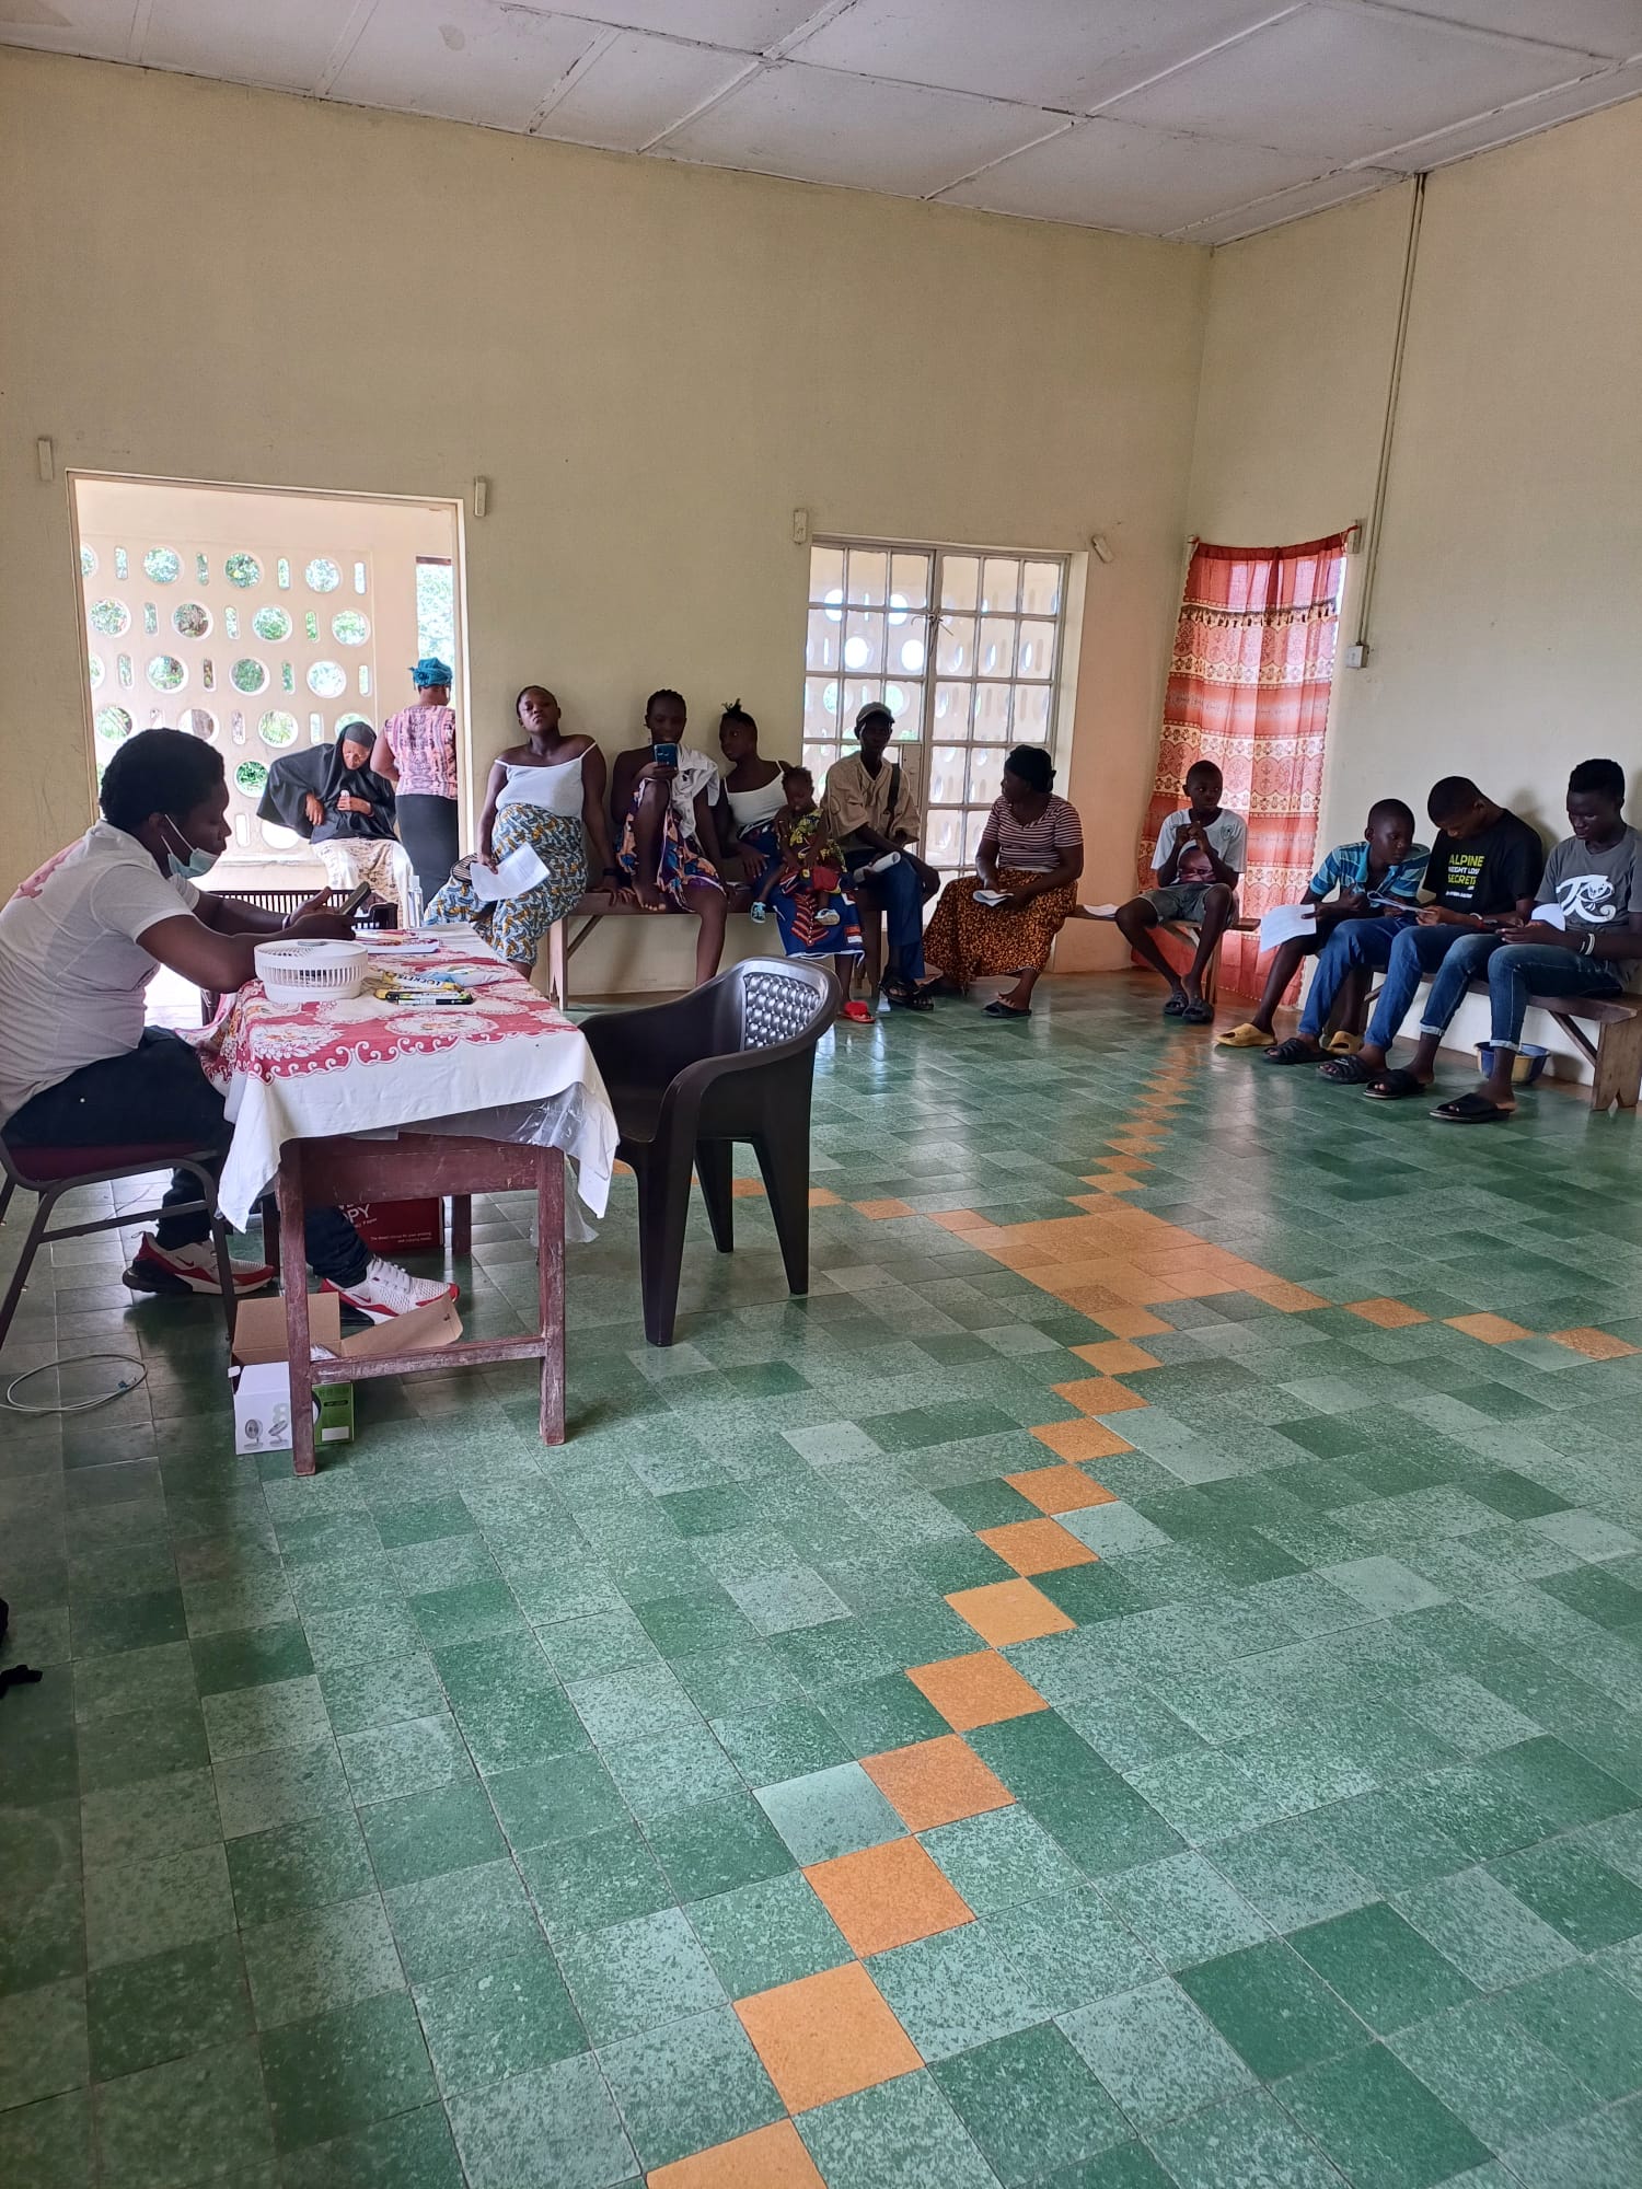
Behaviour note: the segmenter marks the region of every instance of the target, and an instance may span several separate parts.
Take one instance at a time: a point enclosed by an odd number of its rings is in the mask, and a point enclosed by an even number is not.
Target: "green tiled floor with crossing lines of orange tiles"
[[[641,1344],[234,1460],[206,1307],[57,1252],[0,1432],[0,2180],[1635,2189],[1633,1119],[1498,1134],[1149,989],[821,1059]],[[464,1311],[532,1292],[479,1211]]]

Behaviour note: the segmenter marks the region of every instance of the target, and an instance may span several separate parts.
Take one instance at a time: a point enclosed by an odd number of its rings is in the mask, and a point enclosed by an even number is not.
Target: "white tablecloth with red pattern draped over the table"
[[[471,930],[420,939],[436,939],[438,952],[383,954],[381,970],[449,974],[473,989],[471,1005],[372,994],[289,1005],[252,981],[199,1035],[199,1062],[234,1125],[219,1193],[236,1228],[271,1184],[285,1140],[394,1130],[563,1147],[582,1202],[604,1215],[615,1112],[585,1035]]]

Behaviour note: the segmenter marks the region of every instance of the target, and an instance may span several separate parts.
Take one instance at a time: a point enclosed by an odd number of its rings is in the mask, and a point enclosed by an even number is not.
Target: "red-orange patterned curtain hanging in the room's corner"
[[[1303,547],[1209,547],[1200,541],[1180,602],[1158,775],[1141,836],[1141,887],[1163,816],[1184,803],[1193,760],[1226,777],[1224,803],[1248,819],[1244,915],[1294,904],[1316,871],[1322,736],[1346,536]],[[1219,985],[1259,996],[1254,935],[1228,935]]]

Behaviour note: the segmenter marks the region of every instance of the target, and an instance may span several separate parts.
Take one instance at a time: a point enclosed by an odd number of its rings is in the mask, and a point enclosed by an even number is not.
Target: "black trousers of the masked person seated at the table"
[[[223,1116],[223,1097],[206,1079],[199,1057],[166,1027],[144,1027],[142,1040],[123,1057],[83,1064],[55,1088],[46,1088],[7,1121],[7,1143],[26,1147],[120,1147],[142,1140],[186,1140],[217,1149],[221,1169],[234,1127]],[[199,1186],[175,1171],[162,1208],[193,1202]],[[162,1248],[199,1246],[210,1237],[210,1219],[160,1217]],[[357,1285],[366,1274],[366,1241],[339,1208],[309,1208],[309,1267],[333,1285]]]

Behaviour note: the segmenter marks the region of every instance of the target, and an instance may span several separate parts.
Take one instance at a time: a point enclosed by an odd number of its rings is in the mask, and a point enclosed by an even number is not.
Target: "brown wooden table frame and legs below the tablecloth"
[[[302,1211],[372,1197],[420,1200],[469,1193],[536,1195],[536,1329],[521,1337],[471,1337],[370,1359],[315,1359],[309,1335],[309,1270]],[[291,1460],[313,1473],[313,1386],[381,1375],[541,1362],[541,1440],[565,1443],[565,1158],[556,1147],[521,1147],[458,1134],[401,1132],[396,1140],[287,1140],[280,1149],[280,1281],[291,1353]]]

